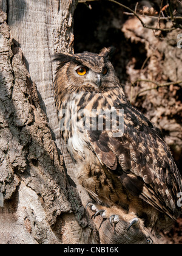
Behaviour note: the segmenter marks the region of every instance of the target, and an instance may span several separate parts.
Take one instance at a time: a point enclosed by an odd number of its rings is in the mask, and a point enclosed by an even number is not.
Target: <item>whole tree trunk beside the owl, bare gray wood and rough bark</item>
[[[73,51],[75,8],[0,0],[0,243],[146,243],[125,222],[99,229],[61,143],[51,55]]]

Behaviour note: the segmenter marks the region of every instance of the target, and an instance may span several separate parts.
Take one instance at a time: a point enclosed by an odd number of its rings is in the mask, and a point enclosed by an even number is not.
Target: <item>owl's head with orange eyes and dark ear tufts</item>
[[[113,48],[104,48],[99,54],[56,54],[54,60],[59,62],[59,66],[55,87],[67,90],[67,93],[75,90],[101,92],[118,87],[120,82],[110,62],[112,53]]]

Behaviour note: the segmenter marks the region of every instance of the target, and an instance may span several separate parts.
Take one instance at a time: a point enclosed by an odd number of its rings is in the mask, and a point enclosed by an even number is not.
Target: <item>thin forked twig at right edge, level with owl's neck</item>
[[[169,82],[169,83],[166,83],[166,84],[159,84],[158,82],[155,82],[155,81],[152,81],[152,80],[147,80],[147,79],[138,79],[138,80],[136,80],[135,82],[132,83],[132,87],[133,87],[133,85],[135,85],[138,82],[148,82],[148,83],[155,84],[157,86],[156,87],[152,87],[152,88],[147,88],[145,90],[140,91],[138,94],[136,94],[135,101],[138,98],[138,96],[140,96],[141,93],[144,93],[146,91],[158,90],[158,88],[169,87],[170,85],[178,85],[178,86],[180,86],[182,88],[182,81]]]

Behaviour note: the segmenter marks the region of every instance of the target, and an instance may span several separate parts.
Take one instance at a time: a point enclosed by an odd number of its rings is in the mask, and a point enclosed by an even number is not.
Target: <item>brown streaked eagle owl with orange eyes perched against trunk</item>
[[[180,216],[181,176],[160,130],[127,101],[111,54],[55,55],[61,136],[94,216],[126,221],[150,241],[146,228],[159,232]]]

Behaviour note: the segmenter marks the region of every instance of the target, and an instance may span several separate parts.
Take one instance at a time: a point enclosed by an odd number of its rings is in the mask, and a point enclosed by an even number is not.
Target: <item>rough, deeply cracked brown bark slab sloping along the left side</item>
[[[12,45],[5,23],[0,32],[0,240],[58,243],[50,227],[71,210],[61,162],[21,49]]]

